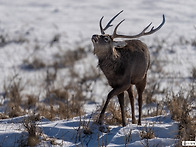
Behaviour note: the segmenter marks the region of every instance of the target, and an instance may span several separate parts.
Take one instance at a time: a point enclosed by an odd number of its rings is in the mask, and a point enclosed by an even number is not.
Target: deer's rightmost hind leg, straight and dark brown
[[[138,120],[138,125],[141,125],[141,117],[142,117],[142,94],[144,92],[146,86],[146,75],[144,77],[144,79],[136,84],[136,89],[138,92],[138,105],[139,105],[139,120]]]

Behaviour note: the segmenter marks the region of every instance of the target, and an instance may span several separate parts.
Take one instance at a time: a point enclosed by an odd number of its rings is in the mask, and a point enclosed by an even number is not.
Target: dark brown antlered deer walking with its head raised
[[[99,21],[101,35],[95,34],[91,38],[94,47],[94,54],[98,58],[98,67],[101,69],[107,78],[109,85],[112,87],[97,120],[100,125],[103,124],[104,113],[109,101],[114,96],[117,96],[120,104],[122,126],[126,126],[124,112],[125,92],[128,92],[131,104],[132,124],[137,123],[138,125],[141,125],[142,95],[146,87],[147,71],[150,65],[150,53],[147,45],[136,38],[155,33],[165,23],[165,16],[163,14],[162,23],[156,28],[153,26],[149,31],[147,31],[152,24],[151,22],[139,34],[120,35],[117,34],[117,29],[125,20],[123,19],[116,25],[112,35],[106,34],[105,31],[113,26],[111,23],[122,12],[123,10],[116,14],[104,28],[102,27],[103,16]],[[122,38],[122,40],[115,41],[114,39],[116,38]],[[129,40],[123,40],[124,38]],[[138,93],[138,122],[135,118],[133,85],[136,87]]]

